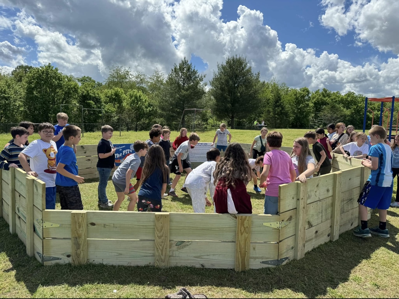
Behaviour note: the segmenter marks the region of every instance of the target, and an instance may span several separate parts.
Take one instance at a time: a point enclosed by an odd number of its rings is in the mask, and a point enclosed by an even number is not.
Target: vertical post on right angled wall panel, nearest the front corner
[[[296,203],[295,260],[305,256],[306,243],[306,201],[308,199],[308,183],[298,183]]]

